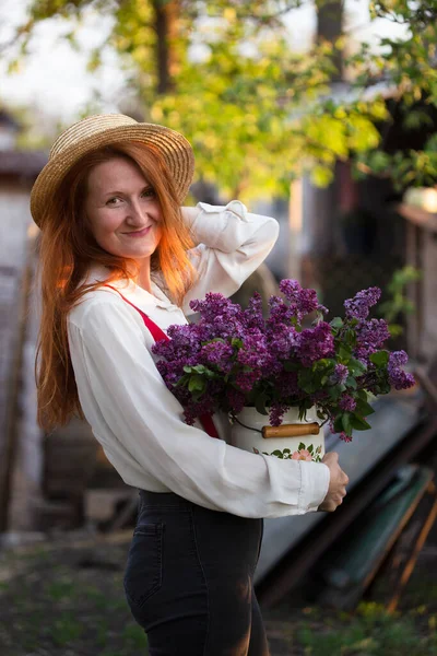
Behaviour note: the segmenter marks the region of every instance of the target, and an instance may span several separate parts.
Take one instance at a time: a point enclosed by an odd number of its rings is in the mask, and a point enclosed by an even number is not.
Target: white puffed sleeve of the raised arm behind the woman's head
[[[189,315],[192,298],[204,298],[206,292],[231,296],[241,286],[273,248],[279,223],[248,212],[239,200],[227,206],[199,202],[181,212],[197,244],[189,256],[199,271],[198,282],[184,300],[182,309]]]

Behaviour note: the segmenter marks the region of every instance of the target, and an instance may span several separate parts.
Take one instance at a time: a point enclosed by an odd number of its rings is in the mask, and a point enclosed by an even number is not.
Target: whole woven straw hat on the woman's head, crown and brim
[[[47,198],[85,153],[116,141],[141,141],[161,151],[173,176],[180,204],[194,171],[192,148],[182,134],[164,126],[138,122],[123,114],[96,114],[70,126],[51,147],[48,163],[31,192],[31,212],[40,226]]]

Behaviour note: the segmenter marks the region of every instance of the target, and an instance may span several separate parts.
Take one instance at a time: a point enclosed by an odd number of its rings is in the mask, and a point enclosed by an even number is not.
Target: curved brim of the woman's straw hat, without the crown
[[[190,142],[179,132],[156,124],[117,126],[67,144],[49,160],[31,192],[31,213],[38,226],[47,207],[47,198],[55,192],[69,169],[86,153],[118,141],[139,141],[157,148],[173,177],[178,201],[180,204],[184,202],[194,173]]]

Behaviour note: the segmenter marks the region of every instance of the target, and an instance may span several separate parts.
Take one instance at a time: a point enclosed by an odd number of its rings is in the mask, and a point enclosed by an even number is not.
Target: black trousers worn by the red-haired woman
[[[139,492],[125,591],[150,656],[269,656],[253,591],[263,520]]]

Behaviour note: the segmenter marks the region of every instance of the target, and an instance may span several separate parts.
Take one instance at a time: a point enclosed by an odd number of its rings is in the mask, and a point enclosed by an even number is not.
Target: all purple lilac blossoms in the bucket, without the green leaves
[[[298,370],[310,367],[322,358],[334,356],[334,340],[331,327],[324,321],[302,331],[295,325],[310,312],[326,311],[318,303],[314,290],[304,290],[294,280],[282,281],[280,290],[285,300],[271,296],[267,319],[262,316],[262,302],[258,293],[245,311],[222,294],[208,293],[204,300],[190,303],[191,308],[201,315],[199,321],[170,326],[170,340],[154,344],[153,353],[163,358],[156,366],[168,389],[185,408],[187,423],[193,423],[203,412],[214,412],[218,407],[240,412],[246,405],[247,393],[253,390],[259,380],[265,380],[274,387],[276,400],[271,403],[271,425],[280,425],[290,405],[304,399],[324,408],[327,415],[333,409],[340,412],[355,410],[356,402],[351,394],[344,394],[338,403],[332,403],[326,389],[316,389],[311,395],[299,389]],[[389,337],[382,319],[366,320],[369,308],[379,296],[380,290],[370,288],[345,302],[346,320],[358,319],[355,321],[357,339],[354,356],[366,364],[369,355],[380,350]],[[232,343],[231,340],[235,338],[238,341]],[[406,360],[404,351],[390,354],[387,374],[373,372],[370,366],[365,375],[357,378],[358,387],[369,391],[375,389],[378,394],[386,376],[397,389],[410,387],[414,378],[401,368]],[[285,371],[285,361],[297,365],[297,371]],[[194,400],[186,385],[176,386],[176,383],[186,375],[185,366],[197,364],[213,368],[217,377],[205,378],[204,393]],[[225,374],[229,374],[226,379]],[[336,364],[330,384],[344,384],[347,376],[347,366]],[[351,441],[344,432],[340,433],[340,437]]]

